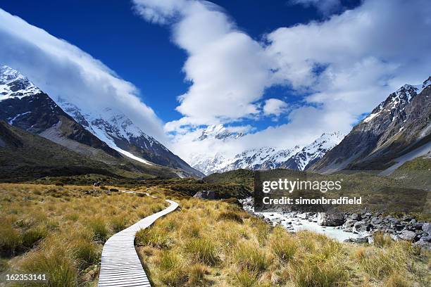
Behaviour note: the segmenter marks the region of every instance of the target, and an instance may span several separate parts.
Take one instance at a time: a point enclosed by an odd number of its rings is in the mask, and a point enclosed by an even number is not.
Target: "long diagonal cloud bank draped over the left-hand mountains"
[[[115,107],[144,132],[167,141],[163,123],[139,100],[139,91],[99,60],[0,9],[0,63],[10,65],[56,98],[86,107]]]

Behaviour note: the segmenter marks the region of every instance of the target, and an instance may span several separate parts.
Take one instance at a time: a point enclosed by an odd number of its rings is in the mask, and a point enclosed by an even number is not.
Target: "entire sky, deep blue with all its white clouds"
[[[186,160],[189,149],[289,148],[347,133],[390,92],[430,75],[427,0],[15,0],[0,8],[0,63],[89,110],[117,105]],[[252,132],[195,141],[220,123]]]

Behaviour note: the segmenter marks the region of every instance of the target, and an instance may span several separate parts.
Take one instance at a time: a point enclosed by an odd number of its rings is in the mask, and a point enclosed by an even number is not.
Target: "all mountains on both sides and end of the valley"
[[[17,70],[1,66],[1,172],[11,178],[50,172],[167,178],[288,168],[319,173],[378,170],[387,175],[406,161],[431,158],[430,86],[431,77],[419,86],[405,84],[345,137],[325,133],[306,146],[254,148],[232,157],[195,154],[191,167],[115,107],[104,103],[89,112],[66,98],[51,98]],[[236,141],[242,136],[211,125],[196,141]]]

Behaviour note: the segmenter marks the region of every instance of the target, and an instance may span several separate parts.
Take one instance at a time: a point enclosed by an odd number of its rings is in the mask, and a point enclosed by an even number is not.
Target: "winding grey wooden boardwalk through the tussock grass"
[[[178,207],[175,201],[166,201],[170,203],[168,208],[139,220],[106,241],[102,250],[99,287],[151,286],[135,250],[135,234]]]

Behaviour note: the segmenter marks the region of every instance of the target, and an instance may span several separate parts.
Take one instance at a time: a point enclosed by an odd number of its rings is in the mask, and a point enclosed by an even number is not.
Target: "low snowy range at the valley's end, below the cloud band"
[[[305,170],[309,166],[320,160],[327,151],[339,144],[342,134],[334,132],[322,134],[316,141],[308,146],[300,148],[295,146],[292,149],[277,149],[273,147],[253,148],[242,153],[238,153],[232,158],[224,155],[208,157],[194,155],[192,166],[204,174],[214,172],[227,172],[239,168],[248,170],[270,170],[279,167],[293,170]]]

